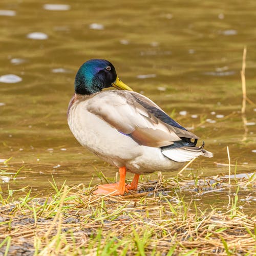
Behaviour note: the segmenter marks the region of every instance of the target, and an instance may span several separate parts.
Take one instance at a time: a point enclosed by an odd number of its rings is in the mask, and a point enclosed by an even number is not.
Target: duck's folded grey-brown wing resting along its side
[[[155,112],[147,105],[152,106]],[[120,133],[131,136],[140,145],[162,147],[181,140],[180,137],[198,139],[182,126],[166,123],[161,114],[167,114],[159,106],[134,92],[104,91],[96,94],[88,101],[87,110]]]

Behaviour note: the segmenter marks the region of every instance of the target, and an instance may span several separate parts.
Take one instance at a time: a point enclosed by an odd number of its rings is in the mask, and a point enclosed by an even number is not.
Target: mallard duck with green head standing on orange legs
[[[95,194],[124,195],[137,189],[142,174],[177,169],[198,156],[212,157],[204,143],[196,146],[197,135],[126,86],[108,60],[83,63],[74,87],[67,112],[71,132],[82,146],[119,168],[119,182],[99,185]],[[104,90],[109,87],[118,90]],[[131,184],[125,183],[126,171],[135,174]]]

